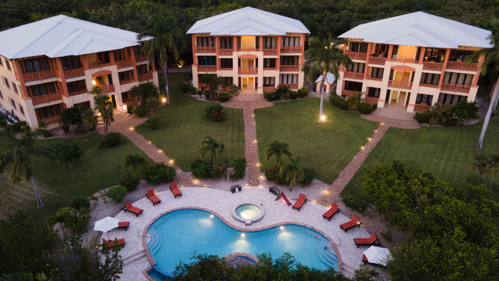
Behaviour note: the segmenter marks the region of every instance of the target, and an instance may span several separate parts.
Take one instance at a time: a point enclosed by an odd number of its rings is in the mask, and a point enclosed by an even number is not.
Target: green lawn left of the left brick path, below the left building
[[[130,140],[122,136],[120,144],[113,148],[98,148],[104,137],[91,134],[69,139],[80,145],[83,154],[79,159],[71,162],[71,166],[53,164],[49,160],[35,158],[33,161],[34,176],[38,184],[41,200],[45,207],[36,208],[31,181],[21,182],[18,185],[9,181],[9,170],[0,174],[0,218],[5,218],[13,210],[23,210],[35,219],[43,220],[54,214],[59,208],[69,206],[71,200],[78,195],[88,196],[98,190],[118,184],[124,175],[123,166],[125,155],[140,152]],[[62,139],[37,140],[36,145],[46,146],[62,142]],[[2,148],[1,153],[6,152]],[[131,173],[131,170],[128,171]]]

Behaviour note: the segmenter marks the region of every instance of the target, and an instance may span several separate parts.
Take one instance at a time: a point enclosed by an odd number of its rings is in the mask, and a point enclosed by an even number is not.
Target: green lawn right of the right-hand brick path
[[[404,159],[441,179],[463,184],[476,183],[480,181],[478,173],[470,170],[474,156],[499,151],[499,119],[491,120],[483,148],[476,148],[482,125],[483,122],[463,128],[389,128],[341,195],[362,196],[361,177],[365,169],[392,158]],[[498,185],[499,176],[489,176],[489,184]],[[493,197],[498,200],[498,192]]]

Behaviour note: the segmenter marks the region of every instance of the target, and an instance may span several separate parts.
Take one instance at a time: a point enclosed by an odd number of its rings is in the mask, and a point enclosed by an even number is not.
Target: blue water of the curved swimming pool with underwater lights
[[[328,240],[301,225],[282,225],[243,232],[226,225],[210,212],[181,209],[154,221],[147,232],[155,235],[147,243],[155,268],[171,274],[180,261],[190,263],[194,252],[225,257],[233,253],[253,256],[270,253],[274,259],[290,253],[304,266],[338,270],[338,258],[324,249]]]

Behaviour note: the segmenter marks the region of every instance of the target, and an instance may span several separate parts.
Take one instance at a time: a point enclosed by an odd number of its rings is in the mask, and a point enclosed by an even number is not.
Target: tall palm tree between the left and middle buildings
[[[142,55],[149,55],[149,62],[158,62],[165,75],[166,104],[170,106],[170,93],[168,91],[168,55],[175,59],[179,57],[177,45],[183,45],[182,32],[177,27],[173,17],[155,14],[148,19],[144,31],[137,35],[137,40],[144,40]]]

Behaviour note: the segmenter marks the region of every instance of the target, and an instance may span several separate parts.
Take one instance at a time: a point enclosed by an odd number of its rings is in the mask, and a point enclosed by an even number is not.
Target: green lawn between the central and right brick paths
[[[254,110],[262,171],[275,163],[265,160],[265,145],[278,139],[289,144],[305,167],[315,170],[317,179],[332,183],[377,127],[360,113],[340,110],[327,100],[323,108],[327,120],[318,124],[319,102],[309,97]]]

